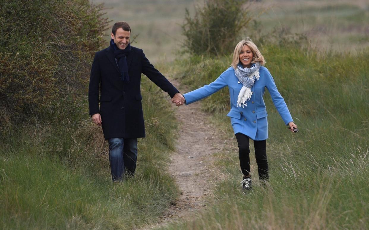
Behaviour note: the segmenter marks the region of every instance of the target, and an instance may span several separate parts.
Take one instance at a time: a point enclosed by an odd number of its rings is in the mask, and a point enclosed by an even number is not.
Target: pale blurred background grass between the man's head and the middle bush
[[[95,4],[104,3],[107,15],[113,22],[126,21],[130,24],[132,35],[138,35],[132,46],[143,49],[146,57],[157,63],[163,57],[173,61],[177,50],[182,44],[180,24],[184,20],[184,9],[193,11],[192,0],[157,0],[135,1],[126,0],[92,0]],[[111,29],[107,30],[110,40]]]

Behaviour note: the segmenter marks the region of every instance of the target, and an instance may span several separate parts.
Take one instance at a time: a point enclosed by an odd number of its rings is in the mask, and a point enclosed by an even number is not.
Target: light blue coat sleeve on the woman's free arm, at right
[[[270,96],[272,97],[274,106],[278,110],[279,115],[282,117],[284,123],[287,125],[288,123],[293,122],[290,111],[288,110],[288,107],[286,105],[286,102],[284,102],[282,95],[280,95],[270,72],[266,71],[266,75],[268,78],[266,88],[268,89]]]

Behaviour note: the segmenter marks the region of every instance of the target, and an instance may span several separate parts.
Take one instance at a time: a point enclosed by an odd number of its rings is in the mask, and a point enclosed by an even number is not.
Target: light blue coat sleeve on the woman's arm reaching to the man
[[[221,90],[225,86],[227,86],[227,79],[225,72],[223,72],[215,81],[211,82],[209,85],[204,85],[203,87],[195,89],[194,91],[185,93],[183,96],[186,99],[186,105],[206,98],[213,93]]]

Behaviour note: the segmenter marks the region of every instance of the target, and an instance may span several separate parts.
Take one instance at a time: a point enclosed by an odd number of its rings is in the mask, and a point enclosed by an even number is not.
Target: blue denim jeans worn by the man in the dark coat
[[[109,163],[113,181],[134,176],[137,162],[137,138],[110,138]]]

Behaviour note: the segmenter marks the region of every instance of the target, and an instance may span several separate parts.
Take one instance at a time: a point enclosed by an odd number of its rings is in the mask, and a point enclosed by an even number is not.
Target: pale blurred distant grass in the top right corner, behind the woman
[[[264,13],[257,18],[262,32],[287,30],[305,35],[317,49],[355,53],[368,46],[368,39],[350,42],[350,36],[362,36],[368,27],[368,3],[364,1],[261,1],[255,4]],[[251,36],[246,31],[247,36]],[[252,35],[254,36],[254,35]]]

